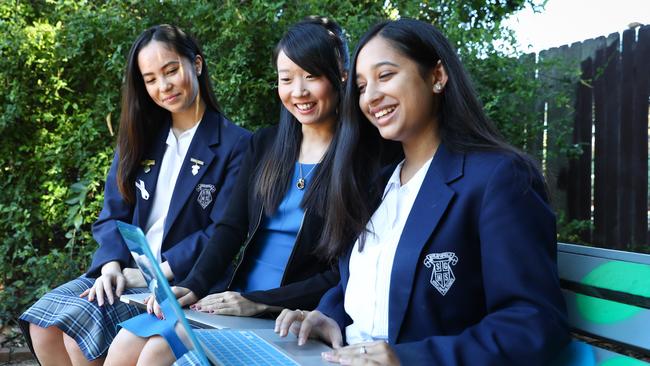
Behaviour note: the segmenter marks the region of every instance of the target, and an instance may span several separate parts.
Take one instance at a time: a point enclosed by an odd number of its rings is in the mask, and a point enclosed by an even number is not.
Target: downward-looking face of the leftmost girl
[[[193,62],[170,49],[165,43],[152,40],[138,54],[138,67],[147,93],[160,107],[172,114],[188,111],[199,94],[197,73],[202,59]]]

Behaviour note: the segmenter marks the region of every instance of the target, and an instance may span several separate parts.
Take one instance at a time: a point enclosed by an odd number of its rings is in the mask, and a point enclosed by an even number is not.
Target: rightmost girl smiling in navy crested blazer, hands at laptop
[[[415,20],[375,26],[346,92],[323,237],[341,281],[276,331],[321,338],[341,364],[546,364],[569,337],[543,177],[487,119],[447,39]],[[364,177],[376,132],[404,160]]]

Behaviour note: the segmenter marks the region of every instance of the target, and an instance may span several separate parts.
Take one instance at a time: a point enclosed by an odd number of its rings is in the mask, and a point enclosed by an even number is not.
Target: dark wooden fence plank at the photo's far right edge
[[[631,170],[638,176],[634,187],[633,242],[648,243],[648,98],[650,96],[650,26],[641,27],[634,55],[634,103],[632,125],[634,151]]]

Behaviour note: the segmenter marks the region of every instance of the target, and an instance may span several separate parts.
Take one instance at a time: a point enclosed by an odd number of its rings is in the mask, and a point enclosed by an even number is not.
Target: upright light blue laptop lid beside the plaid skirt
[[[185,314],[178,304],[176,296],[172,292],[169,282],[167,282],[167,278],[163,275],[162,270],[158,265],[158,261],[151,252],[149,244],[147,243],[147,238],[142,230],[135,225],[127,224],[122,221],[117,221],[117,229],[120,231],[122,238],[124,238],[126,245],[129,247],[129,251],[138,265],[138,268],[140,268],[140,271],[147,282],[149,291],[156,295],[156,300],[158,300],[158,304],[162,308],[165,318],[175,319],[180,322],[181,327],[185,330],[191,343],[192,349],[190,349],[190,351],[195,351],[192,352],[194,358],[198,359],[202,365],[209,366],[210,362],[208,362],[208,359],[201,350],[196,335],[192,331],[190,324],[187,322]]]

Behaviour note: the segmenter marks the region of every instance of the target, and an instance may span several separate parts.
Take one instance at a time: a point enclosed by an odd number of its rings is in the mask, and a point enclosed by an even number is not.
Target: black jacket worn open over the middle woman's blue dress
[[[256,132],[250,140],[227,211],[210,245],[206,246],[190,275],[179,283],[179,286],[189,288],[199,298],[211,293],[239,290],[243,297],[253,302],[292,309],[313,309],[325,291],[339,280],[336,266],[315,251],[323,219],[307,209],[302,213],[302,218],[297,218],[295,222],[298,231],[289,258],[280,263],[282,274],[278,286],[246,291],[250,287],[245,285],[245,277],[251,267],[245,262],[259,258],[255,249],[264,240],[260,238],[260,232],[264,221],[269,219],[264,214],[262,200],[255,193],[255,173],[263,157],[269,153],[277,132],[277,126],[265,128]],[[315,174],[312,171],[311,177]],[[290,184],[293,187],[295,180]],[[306,184],[305,191],[311,184],[309,178]],[[268,245],[272,248],[275,243]],[[236,262],[233,262],[235,258]]]

